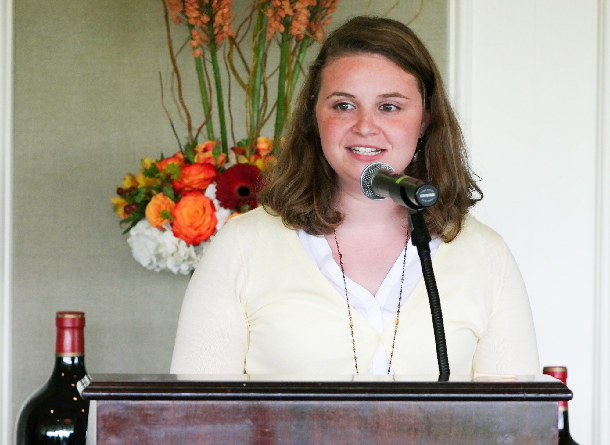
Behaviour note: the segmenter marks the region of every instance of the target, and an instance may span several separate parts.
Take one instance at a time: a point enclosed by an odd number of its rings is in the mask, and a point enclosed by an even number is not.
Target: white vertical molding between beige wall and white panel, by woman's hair
[[[472,1],[447,1],[447,90],[467,146],[472,125]]]

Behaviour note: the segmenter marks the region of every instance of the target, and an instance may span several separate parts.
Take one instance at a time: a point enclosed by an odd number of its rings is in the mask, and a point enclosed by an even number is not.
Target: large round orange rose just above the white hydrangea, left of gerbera
[[[187,244],[199,244],[210,238],[216,230],[216,208],[201,191],[187,191],[171,211],[174,217],[174,237]]]

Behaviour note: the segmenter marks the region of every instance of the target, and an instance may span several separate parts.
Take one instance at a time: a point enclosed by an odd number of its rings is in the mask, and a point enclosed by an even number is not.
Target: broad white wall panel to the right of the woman
[[[598,5],[595,0],[453,1],[470,79],[450,79],[485,198],[476,216],[522,270],[540,364],[569,368],[575,440],[593,439]],[[468,8],[464,4],[470,4]],[[451,34],[451,33],[450,33]],[[469,34],[469,37],[463,37]],[[459,46],[459,43],[458,43]],[[449,45],[451,48],[451,44]],[[451,67],[450,67],[451,73]],[[463,113],[462,113],[463,114]]]

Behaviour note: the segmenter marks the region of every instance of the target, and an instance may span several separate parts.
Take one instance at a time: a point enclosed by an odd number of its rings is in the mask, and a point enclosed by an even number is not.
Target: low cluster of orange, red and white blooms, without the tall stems
[[[215,158],[218,141],[159,160],[143,158],[137,176],[127,173],[110,198],[121,222],[130,223],[127,243],[135,260],[147,269],[188,274],[198,264],[213,234],[232,216],[257,207],[262,171],[273,163],[271,141],[257,140],[256,153],[225,167]]]

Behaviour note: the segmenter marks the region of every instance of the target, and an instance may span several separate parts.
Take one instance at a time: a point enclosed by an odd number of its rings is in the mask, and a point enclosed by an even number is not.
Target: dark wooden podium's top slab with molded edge
[[[519,400],[572,399],[550,376],[91,374],[78,383],[89,400]]]

